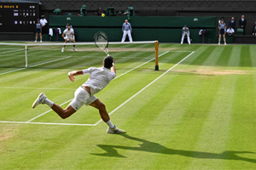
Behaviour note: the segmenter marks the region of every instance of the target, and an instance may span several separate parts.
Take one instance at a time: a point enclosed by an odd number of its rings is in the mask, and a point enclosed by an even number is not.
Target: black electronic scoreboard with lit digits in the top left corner
[[[0,32],[34,32],[38,3],[0,3]]]

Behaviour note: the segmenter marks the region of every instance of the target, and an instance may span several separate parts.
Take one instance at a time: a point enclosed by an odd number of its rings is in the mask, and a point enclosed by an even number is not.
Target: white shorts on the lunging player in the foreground
[[[95,95],[90,96],[90,94],[84,88],[79,87],[75,91],[74,99],[69,105],[71,105],[75,111],[79,111],[83,105],[90,105],[96,99],[97,98]]]

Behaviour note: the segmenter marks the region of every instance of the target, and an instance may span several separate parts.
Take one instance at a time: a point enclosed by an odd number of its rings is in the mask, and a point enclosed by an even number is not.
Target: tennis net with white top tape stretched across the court
[[[61,52],[66,45],[64,52]],[[73,45],[78,50],[73,50]],[[115,60],[135,62],[158,56],[158,42],[109,42]],[[0,43],[0,67],[4,68],[84,68],[101,64],[106,54],[94,42]],[[101,61],[101,62],[99,62]]]

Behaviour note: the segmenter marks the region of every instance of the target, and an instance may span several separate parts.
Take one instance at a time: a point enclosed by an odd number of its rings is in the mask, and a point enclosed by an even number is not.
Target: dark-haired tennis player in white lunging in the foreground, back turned
[[[74,99],[69,105],[67,105],[65,110],[63,110],[60,105],[56,105],[54,102],[49,100],[44,93],[39,94],[38,99],[34,101],[32,108],[35,108],[39,104],[46,104],[61,116],[62,119],[65,119],[73,115],[76,111],[79,111],[83,105],[90,105],[99,110],[102,120],[108,124],[108,133],[125,133],[124,130],[113,125],[108,116],[105,105],[102,104],[102,102],[94,95],[105,88],[115,77],[116,71],[113,63],[113,57],[108,56],[103,60],[102,68],[90,67],[89,69],[84,69],[82,71],[68,72],[67,75],[72,82],[75,79],[73,76],[90,74],[90,77],[75,91]]]

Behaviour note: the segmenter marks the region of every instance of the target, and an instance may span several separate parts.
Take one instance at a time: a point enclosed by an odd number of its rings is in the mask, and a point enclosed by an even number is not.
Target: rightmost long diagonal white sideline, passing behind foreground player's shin
[[[180,60],[176,65],[173,65],[168,71],[171,71],[175,66],[179,65],[181,62],[183,62],[184,59],[187,59],[190,55],[194,54],[195,51],[193,51],[192,53],[190,53],[189,55],[187,55],[185,58],[183,58],[182,60]],[[168,71],[164,72],[163,74],[160,75],[160,77],[163,77]],[[154,79],[153,82],[150,82],[146,87],[144,87],[143,89],[141,89],[139,92],[137,92],[137,94],[140,94],[141,92],[143,92],[144,89],[148,88],[151,84],[153,84],[154,82],[156,82],[158,79],[160,79],[160,77],[157,77],[156,79]],[[122,103],[121,105],[119,105],[117,108],[115,108],[113,111],[111,111],[108,115],[111,115],[114,111],[117,111],[120,107],[122,107],[123,105],[125,105],[128,101],[130,101],[131,99],[133,99],[134,97],[137,96],[137,94],[134,94],[133,96],[131,96],[131,98],[127,99],[124,103]],[[96,122],[94,125],[96,126],[97,124],[99,124],[100,122],[102,122],[102,119],[98,122]]]

